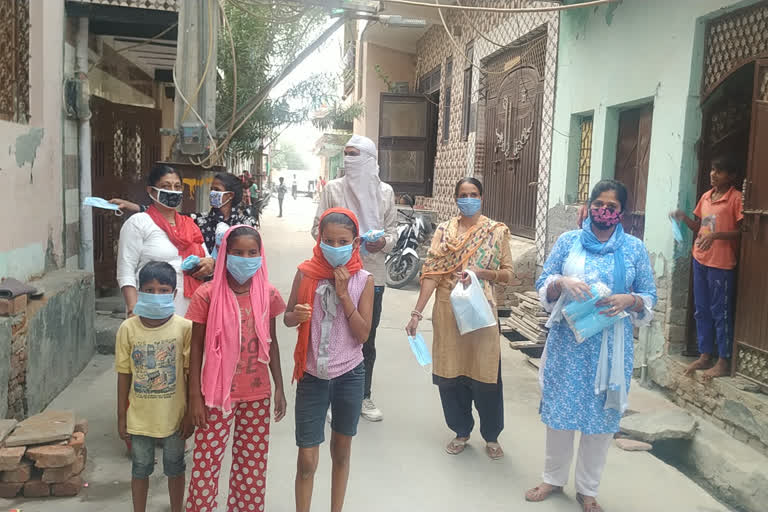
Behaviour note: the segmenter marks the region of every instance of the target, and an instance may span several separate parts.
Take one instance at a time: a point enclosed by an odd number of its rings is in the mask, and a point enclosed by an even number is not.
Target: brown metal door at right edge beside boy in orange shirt
[[[756,63],[739,260],[735,373],[768,386],[768,59]]]

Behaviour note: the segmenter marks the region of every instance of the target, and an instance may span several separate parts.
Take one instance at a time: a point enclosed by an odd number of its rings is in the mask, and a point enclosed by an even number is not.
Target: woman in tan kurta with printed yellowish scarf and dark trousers
[[[461,215],[442,223],[435,232],[424,263],[419,299],[406,331],[416,333],[422,312],[437,290],[432,311],[432,380],[440,390],[445,421],[456,433],[445,449],[451,455],[464,451],[474,428],[474,402],[486,452],[498,459],[504,455],[498,443],[504,428],[499,330],[493,326],[460,335],[449,300],[469,269],[477,274],[495,311],[493,285],[508,283],[512,277],[509,230],[480,214],[482,196],[483,185],[474,178],[464,178],[456,185]]]

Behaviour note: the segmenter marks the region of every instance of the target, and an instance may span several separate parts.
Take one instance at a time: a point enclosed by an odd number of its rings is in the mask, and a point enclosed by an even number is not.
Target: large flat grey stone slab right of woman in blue
[[[632,414],[621,419],[621,431],[646,443],[669,439],[691,439],[698,423],[682,410],[663,410]]]

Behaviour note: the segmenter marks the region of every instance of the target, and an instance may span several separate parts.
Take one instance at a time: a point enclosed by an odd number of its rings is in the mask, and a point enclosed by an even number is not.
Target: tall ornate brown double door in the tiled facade
[[[512,234],[534,238],[543,87],[533,67],[518,67],[488,99],[484,213]]]

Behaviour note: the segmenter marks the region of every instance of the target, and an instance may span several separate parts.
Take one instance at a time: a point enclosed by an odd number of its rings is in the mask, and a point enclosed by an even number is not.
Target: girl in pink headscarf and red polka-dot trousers
[[[269,283],[258,231],[224,235],[212,282],[187,310],[192,320],[188,423],[197,428],[187,511],[213,512],[224,449],[235,424],[226,510],[265,510],[272,386],[275,421],[285,416],[275,317],[285,303]]]

